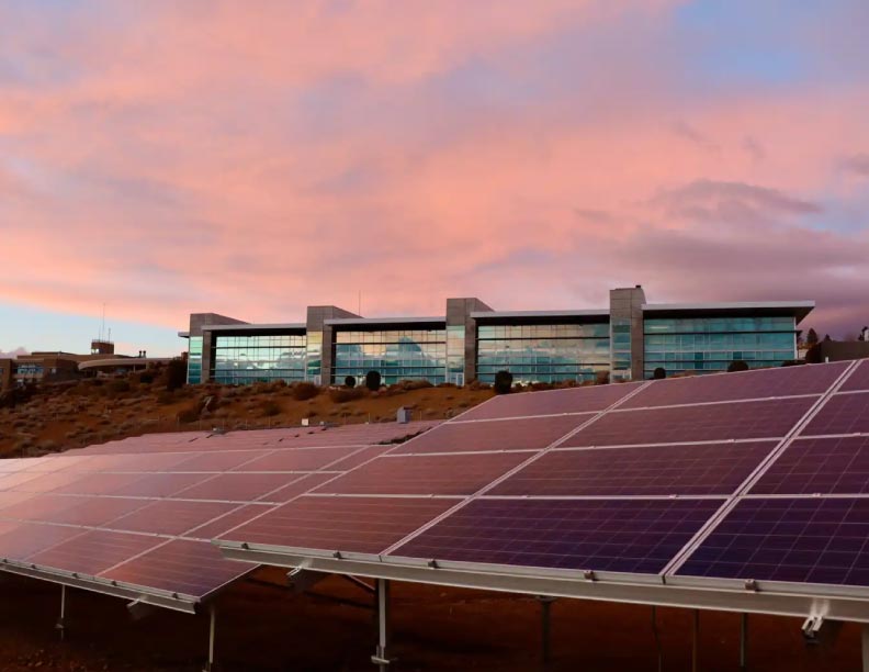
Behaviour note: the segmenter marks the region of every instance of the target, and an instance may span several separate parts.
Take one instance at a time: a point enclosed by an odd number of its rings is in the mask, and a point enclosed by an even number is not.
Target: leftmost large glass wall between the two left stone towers
[[[223,384],[305,379],[303,335],[215,336],[212,378]],[[192,340],[192,339],[191,339]]]

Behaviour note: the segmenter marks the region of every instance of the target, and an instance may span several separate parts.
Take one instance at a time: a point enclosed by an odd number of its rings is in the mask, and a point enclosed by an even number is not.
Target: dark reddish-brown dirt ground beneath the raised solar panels
[[[216,657],[225,672],[371,671],[375,625],[371,594],[338,576],[295,594],[282,572],[260,572],[223,594]],[[266,581],[262,583],[261,581]],[[66,639],[55,629],[60,589],[20,578],[3,580],[0,669],[50,672],[151,670],[193,672],[206,654],[208,619],[157,611],[132,620],[120,600],[69,591]],[[541,662],[540,604],[501,593],[394,583],[391,654],[396,672],[654,672],[657,652],[651,608],[560,600],[552,605],[552,661]],[[691,669],[692,613],[658,609],[663,669]],[[806,646],[793,618],[751,616],[749,670],[859,670],[859,630],[830,627]],[[738,615],[702,612],[699,670],[738,669]]]

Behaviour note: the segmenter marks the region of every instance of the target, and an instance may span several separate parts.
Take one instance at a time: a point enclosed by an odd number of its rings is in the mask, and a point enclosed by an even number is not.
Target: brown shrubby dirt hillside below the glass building
[[[392,422],[400,406],[413,419],[445,419],[493,395],[488,389],[426,387],[350,391],[320,389],[297,400],[292,387],[255,384],[188,385],[172,392],[159,382],[143,384],[86,380],[46,385],[14,407],[0,408],[0,457],[29,457],[159,432],[297,426],[303,418],[354,424]],[[99,384],[97,384],[99,383]],[[338,400],[338,401],[337,401]]]

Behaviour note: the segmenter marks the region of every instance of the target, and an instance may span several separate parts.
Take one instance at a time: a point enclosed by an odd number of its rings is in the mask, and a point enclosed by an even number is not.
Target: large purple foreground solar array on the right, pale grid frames
[[[867,492],[869,361],[836,362],[495,397],[217,542],[869,586]]]

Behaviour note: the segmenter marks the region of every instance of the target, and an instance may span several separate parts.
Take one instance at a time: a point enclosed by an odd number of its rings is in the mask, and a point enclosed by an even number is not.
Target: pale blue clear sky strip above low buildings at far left
[[[34,350],[88,352],[90,341],[100,335],[102,318],[0,303],[0,351],[23,347]],[[153,324],[114,320],[106,316],[104,335],[112,329],[112,340],[125,344],[132,351],[119,348],[121,355],[136,355],[139,349],[149,356],[173,356],[187,349],[187,340],[178,337],[184,325],[171,329]]]

